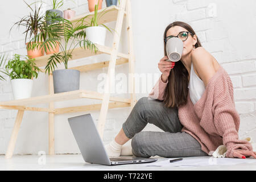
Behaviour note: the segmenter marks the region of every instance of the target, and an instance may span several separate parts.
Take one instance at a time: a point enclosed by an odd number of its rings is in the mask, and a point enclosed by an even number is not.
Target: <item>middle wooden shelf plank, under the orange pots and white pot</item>
[[[95,44],[98,47],[98,52],[94,53],[94,51],[91,51],[89,49],[84,49],[81,47],[77,47],[73,50],[72,52],[72,59],[69,59],[69,61],[71,60],[76,60],[76,59],[80,59],[83,57],[89,57],[89,56],[94,56],[94,55],[100,55],[102,53],[106,53],[108,55],[111,54],[112,49],[107,47],[107,46],[102,46],[100,44]],[[35,63],[38,67],[43,67],[47,64],[49,57],[52,56],[51,55],[45,55],[45,56],[40,56],[40,57],[35,57]],[[117,53],[118,57],[122,57],[124,59],[128,60],[128,55],[125,53]]]

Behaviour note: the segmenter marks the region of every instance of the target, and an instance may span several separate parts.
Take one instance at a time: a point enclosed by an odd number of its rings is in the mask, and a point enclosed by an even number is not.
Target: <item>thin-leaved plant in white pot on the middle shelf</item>
[[[86,38],[90,40],[90,42],[105,46],[106,29],[108,29],[110,32],[112,31],[107,26],[105,26],[105,24],[98,24],[98,20],[107,12],[108,11],[104,9],[102,14],[98,15],[98,5],[95,5],[94,14],[87,15],[82,18],[83,21],[86,18],[90,18],[90,26],[85,28]],[[100,25],[104,27],[101,27]]]

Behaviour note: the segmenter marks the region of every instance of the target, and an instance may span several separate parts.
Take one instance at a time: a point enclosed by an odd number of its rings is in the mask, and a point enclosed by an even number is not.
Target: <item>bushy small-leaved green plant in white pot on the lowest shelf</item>
[[[14,100],[31,97],[33,80],[37,78],[40,69],[34,63],[35,59],[20,60],[20,55],[15,54],[9,60],[5,69],[6,75],[10,77]]]

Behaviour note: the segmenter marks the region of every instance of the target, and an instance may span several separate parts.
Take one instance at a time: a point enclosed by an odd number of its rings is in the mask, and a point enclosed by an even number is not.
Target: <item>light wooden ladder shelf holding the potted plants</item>
[[[135,98],[135,88],[134,88],[134,51],[133,51],[133,33],[132,33],[132,24],[131,24],[131,4],[130,0],[121,0],[119,6],[110,6],[105,8],[108,13],[102,16],[101,20],[98,23],[108,23],[116,21],[115,31],[114,31],[114,40],[112,47],[101,46],[96,44],[98,48],[97,54],[93,53],[90,50],[85,50],[83,48],[75,48],[72,53],[72,60],[80,59],[83,57],[89,57],[93,55],[99,55],[101,53],[106,53],[110,55],[109,61],[103,61],[101,63],[94,64],[86,64],[81,65],[79,67],[73,67],[69,69],[77,69],[81,72],[88,72],[98,68],[108,67],[108,75],[106,76],[105,85],[104,85],[104,93],[98,93],[90,90],[75,90],[72,92],[64,92],[54,94],[53,90],[53,77],[52,73],[50,73],[48,77],[49,84],[49,94],[47,96],[38,96],[31,97],[21,100],[11,100],[0,102],[0,109],[14,109],[18,110],[18,114],[16,115],[16,120],[14,123],[13,131],[11,133],[11,138],[9,141],[9,145],[6,151],[5,158],[11,158],[13,156],[16,139],[18,137],[19,127],[22,122],[23,114],[25,110],[29,111],[43,111],[48,113],[48,154],[55,154],[54,149],[54,118],[55,114],[64,114],[64,113],[74,113],[81,111],[89,111],[89,110],[99,110],[100,109],[100,117],[98,121],[98,131],[100,133],[101,138],[103,138],[104,127],[106,122],[106,115],[108,113],[108,109],[115,107],[130,107],[133,109],[137,100]],[[103,9],[102,9],[103,10]],[[98,11],[100,15],[102,10]],[[83,18],[86,15],[94,14],[94,12],[82,14],[76,16],[71,19],[71,22],[75,22]],[[123,17],[126,16],[127,20],[127,39],[128,39],[128,54],[118,52],[119,40],[122,30]],[[36,57],[35,63],[38,67],[43,67],[47,64],[47,60],[51,55],[46,55],[42,57]],[[118,59],[117,59],[118,57]],[[129,64],[129,93],[130,98],[120,98],[120,97],[110,97],[110,88],[112,88],[112,84],[114,82],[114,70],[115,65],[118,64]],[[43,69],[42,69],[43,70]],[[44,70],[43,70],[44,71]],[[73,107],[63,107],[63,108],[55,108],[54,102],[58,101],[67,101],[67,100],[75,100],[79,98],[90,98],[94,100],[102,100],[101,104],[93,104],[93,105],[85,105],[85,106],[73,106]],[[110,102],[112,101],[112,102]],[[37,104],[49,104],[47,108],[42,107],[30,107],[30,105]]]

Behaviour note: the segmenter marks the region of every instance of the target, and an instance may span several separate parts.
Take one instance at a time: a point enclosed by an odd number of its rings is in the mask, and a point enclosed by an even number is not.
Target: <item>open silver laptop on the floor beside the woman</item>
[[[71,130],[85,162],[110,166],[118,164],[150,163],[158,160],[152,158],[135,158],[133,156],[109,158],[90,114],[68,118],[68,123],[71,126]]]

